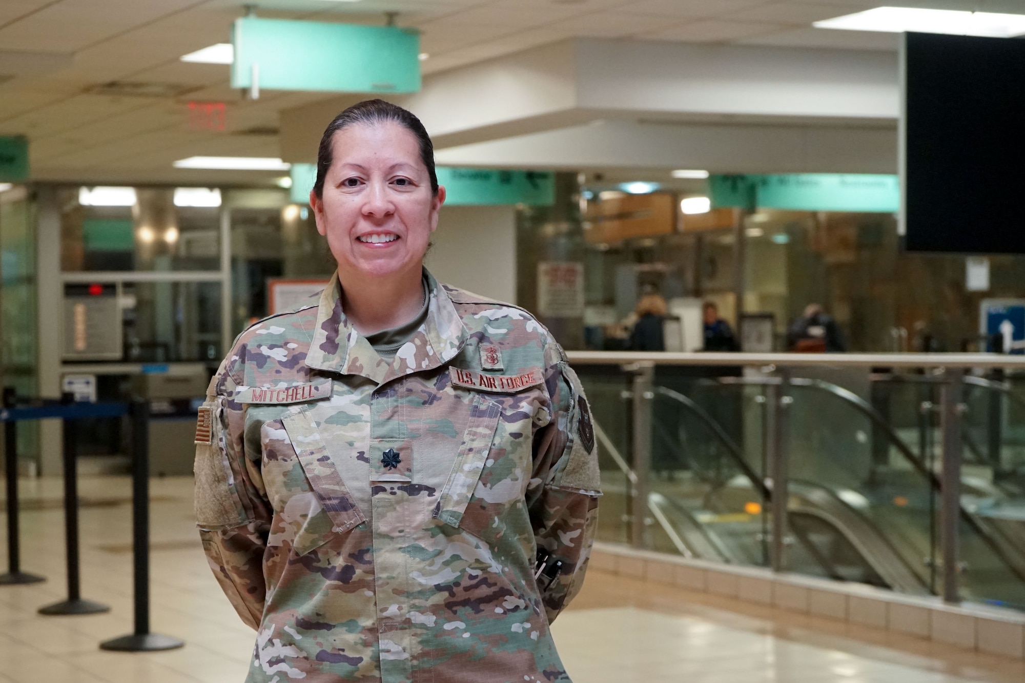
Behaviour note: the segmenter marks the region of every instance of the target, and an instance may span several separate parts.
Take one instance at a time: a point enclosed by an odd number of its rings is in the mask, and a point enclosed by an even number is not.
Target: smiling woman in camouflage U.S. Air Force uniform
[[[600,482],[563,350],[423,269],[445,189],[406,110],[338,115],[310,200],[338,270],[238,337],[196,436],[203,546],[257,632],[247,680],[569,680],[548,625]]]

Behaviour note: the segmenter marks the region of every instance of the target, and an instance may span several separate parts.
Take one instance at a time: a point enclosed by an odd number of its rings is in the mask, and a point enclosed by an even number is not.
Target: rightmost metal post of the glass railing
[[[943,472],[940,475],[940,552],[943,557],[943,600],[960,602],[958,591],[961,418],[965,413],[965,371],[947,368],[942,390]]]

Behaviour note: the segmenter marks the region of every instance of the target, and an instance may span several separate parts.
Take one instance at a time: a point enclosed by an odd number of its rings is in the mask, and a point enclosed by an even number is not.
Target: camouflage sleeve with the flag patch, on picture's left
[[[262,560],[271,515],[259,454],[248,457],[246,453],[245,411],[231,399],[234,387],[222,366],[200,408],[196,523],[217,582],[242,620],[255,629],[266,593]]]

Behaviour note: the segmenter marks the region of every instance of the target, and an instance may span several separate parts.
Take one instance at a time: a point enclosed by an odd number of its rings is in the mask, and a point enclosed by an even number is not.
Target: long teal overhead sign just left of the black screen
[[[900,184],[887,174],[712,175],[708,187],[716,208],[893,213],[900,207]]]

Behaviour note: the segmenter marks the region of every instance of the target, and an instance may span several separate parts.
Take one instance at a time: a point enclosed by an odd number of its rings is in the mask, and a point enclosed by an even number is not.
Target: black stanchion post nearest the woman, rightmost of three
[[[104,650],[150,652],[170,650],[184,643],[150,633],[150,404],[131,403],[132,439],[132,558],[134,563],[135,631],[99,644]]]

